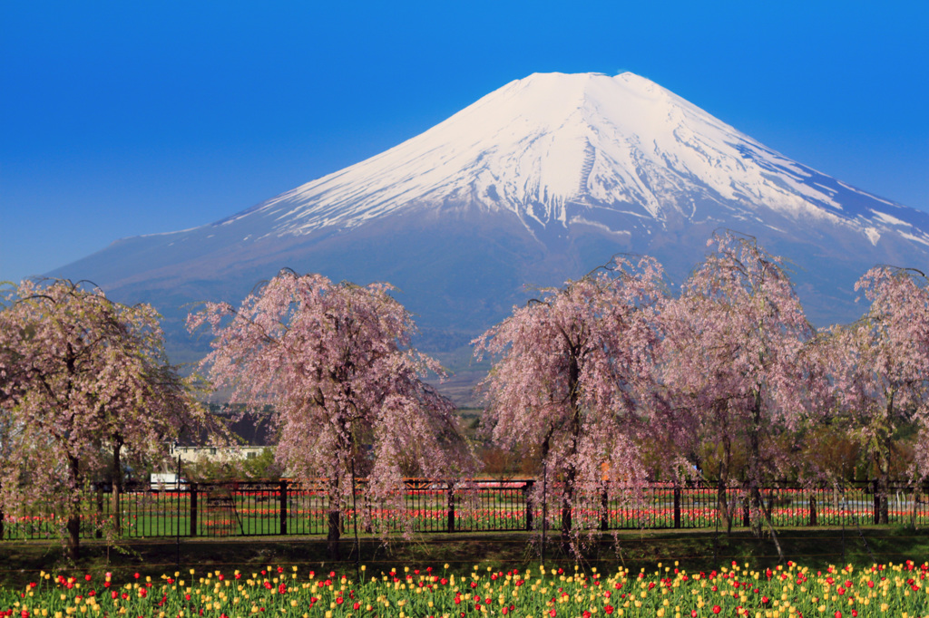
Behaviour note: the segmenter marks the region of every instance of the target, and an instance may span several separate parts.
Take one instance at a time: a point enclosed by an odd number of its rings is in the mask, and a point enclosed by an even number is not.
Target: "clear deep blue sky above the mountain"
[[[203,225],[535,71],[633,71],[929,211],[929,2],[3,2],[0,280]]]

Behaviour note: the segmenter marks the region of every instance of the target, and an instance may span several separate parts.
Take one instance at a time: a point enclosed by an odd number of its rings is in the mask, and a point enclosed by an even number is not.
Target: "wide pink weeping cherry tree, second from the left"
[[[336,560],[355,479],[368,476],[365,496],[399,507],[404,474],[457,479],[471,470],[454,406],[424,381],[445,372],[410,347],[412,315],[390,290],[284,270],[238,309],[206,303],[188,318],[191,330],[216,335],[203,360],[216,388],[229,390],[231,404],[273,406],[278,461],[327,483]]]

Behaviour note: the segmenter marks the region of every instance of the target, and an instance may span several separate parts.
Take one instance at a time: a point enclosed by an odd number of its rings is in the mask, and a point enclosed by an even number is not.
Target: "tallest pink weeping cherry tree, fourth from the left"
[[[719,496],[731,527],[723,487],[741,471],[762,515],[760,483],[779,464],[772,438],[803,417],[802,352],[813,328],[778,257],[732,232],[710,243],[715,251],[661,307],[661,356],[671,406],[692,428],[689,450],[721,451]],[[733,470],[737,450],[746,470]]]

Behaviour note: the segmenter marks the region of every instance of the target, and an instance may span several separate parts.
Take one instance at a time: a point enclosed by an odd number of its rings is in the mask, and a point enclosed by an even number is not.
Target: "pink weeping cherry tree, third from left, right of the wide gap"
[[[650,258],[635,266],[616,259],[542,290],[473,341],[478,359],[496,359],[481,384],[493,438],[506,448],[539,449],[546,478],[564,482],[566,548],[579,492],[599,496],[604,470],[614,480],[643,479],[635,438],[648,420],[661,277]]]

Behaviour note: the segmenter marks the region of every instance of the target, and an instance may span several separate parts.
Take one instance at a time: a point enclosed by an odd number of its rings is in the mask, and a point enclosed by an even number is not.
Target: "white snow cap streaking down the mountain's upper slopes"
[[[413,208],[513,212],[530,231],[593,225],[625,234],[671,219],[761,222],[766,209],[848,225],[871,243],[896,230],[929,245],[921,213],[791,161],[629,72],[530,75],[216,225],[260,217],[254,238],[304,235]]]

